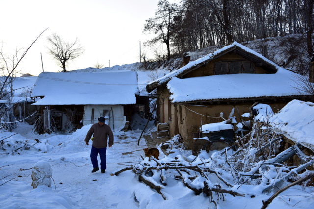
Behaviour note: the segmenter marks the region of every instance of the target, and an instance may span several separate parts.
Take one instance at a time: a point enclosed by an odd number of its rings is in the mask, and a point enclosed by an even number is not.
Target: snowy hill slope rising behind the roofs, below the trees
[[[284,37],[274,37],[248,41],[241,43],[244,46],[262,54],[274,63],[284,68],[293,70],[301,74],[308,73],[308,63],[310,59],[306,51],[306,37],[302,34],[291,34]],[[211,46],[196,51],[188,52],[191,61],[197,60],[205,55],[214,52],[222,46]],[[167,61],[132,63],[126,65],[116,65],[102,69],[86,68],[72,70],[70,72],[116,72],[116,71],[137,71],[138,83],[143,85],[156,80],[165,74],[177,70],[183,66],[182,54],[173,55],[169,63]],[[144,86],[144,85],[143,85]]]

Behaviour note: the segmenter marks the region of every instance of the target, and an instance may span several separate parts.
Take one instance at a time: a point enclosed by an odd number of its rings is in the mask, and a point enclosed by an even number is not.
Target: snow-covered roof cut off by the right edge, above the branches
[[[314,149],[314,103],[292,100],[269,119],[288,139]]]

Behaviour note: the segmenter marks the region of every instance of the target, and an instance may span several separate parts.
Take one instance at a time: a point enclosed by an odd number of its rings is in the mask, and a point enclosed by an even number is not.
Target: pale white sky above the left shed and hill
[[[139,62],[139,41],[145,20],[154,17],[159,0],[0,0],[0,41],[3,52],[13,54],[24,48],[44,31],[19,64],[21,73],[38,75],[44,71],[62,70],[47,54],[47,36],[56,32],[65,41],[76,37],[85,48],[84,55],[69,62],[67,70],[93,67],[97,61],[108,67]],[[180,0],[168,0],[179,3]],[[143,61],[143,60],[142,60]],[[19,75],[18,75],[19,76]]]

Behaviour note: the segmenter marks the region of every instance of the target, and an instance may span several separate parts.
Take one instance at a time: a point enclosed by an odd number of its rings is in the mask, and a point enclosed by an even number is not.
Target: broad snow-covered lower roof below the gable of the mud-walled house
[[[275,74],[231,74],[172,78],[167,87],[176,102],[295,96],[294,73],[279,68]]]

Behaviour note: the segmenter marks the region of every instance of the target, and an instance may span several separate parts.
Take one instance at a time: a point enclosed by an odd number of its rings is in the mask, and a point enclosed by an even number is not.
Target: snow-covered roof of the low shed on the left
[[[38,76],[31,97],[44,98],[34,105],[135,104],[137,73],[45,72]]]

